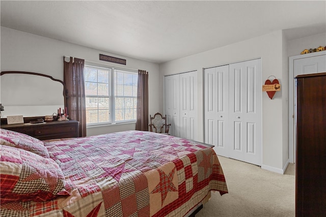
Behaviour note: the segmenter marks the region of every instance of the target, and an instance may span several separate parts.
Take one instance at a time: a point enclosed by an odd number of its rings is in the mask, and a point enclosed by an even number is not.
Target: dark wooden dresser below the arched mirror
[[[1,125],[2,129],[27,134],[39,140],[79,137],[78,127],[79,122],[76,120],[51,121],[31,125],[26,125],[26,123]]]

